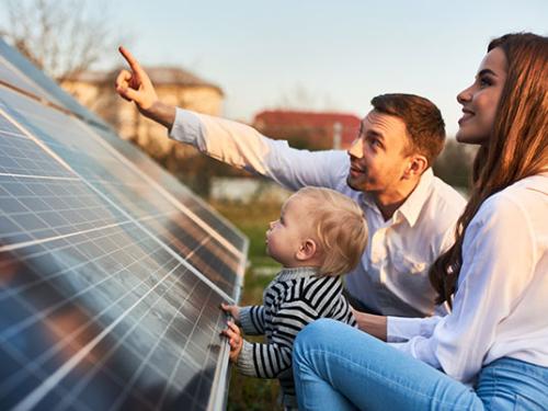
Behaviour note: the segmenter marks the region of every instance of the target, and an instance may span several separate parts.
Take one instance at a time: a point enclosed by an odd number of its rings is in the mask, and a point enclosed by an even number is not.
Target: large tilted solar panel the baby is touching
[[[248,242],[0,41],[0,409],[206,410]]]

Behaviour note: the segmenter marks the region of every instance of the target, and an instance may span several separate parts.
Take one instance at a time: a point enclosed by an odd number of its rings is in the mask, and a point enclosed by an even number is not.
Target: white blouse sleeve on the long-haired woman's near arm
[[[453,311],[435,323],[431,335],[421,335],[415,328],[415,336],[393,346],[457,380],[472,381],[498,324],[530,282],[533,250],[525,210],[509,196],[488,199],[466,230]]]

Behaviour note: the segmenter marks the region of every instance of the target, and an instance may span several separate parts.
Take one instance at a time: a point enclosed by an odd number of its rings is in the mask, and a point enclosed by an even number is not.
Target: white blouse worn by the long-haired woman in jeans
[[[548,366],[548,173],[488,198],[463,256],[453,312],[389,317],[390,345],[465,384],[501,357]]]

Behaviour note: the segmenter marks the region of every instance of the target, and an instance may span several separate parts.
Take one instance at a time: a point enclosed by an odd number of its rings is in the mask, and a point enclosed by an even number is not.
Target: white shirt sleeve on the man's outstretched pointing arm
[[[178,109],[170,137],[239,169],[270,178],[288,190],[306,185],[336,189],[349,170],[342,150],[308,151],[273,140],[254,128]]]

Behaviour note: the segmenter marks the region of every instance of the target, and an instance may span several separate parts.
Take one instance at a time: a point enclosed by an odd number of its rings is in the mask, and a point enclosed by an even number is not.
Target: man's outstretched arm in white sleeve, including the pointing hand
[[[176,109],[158,99],[150,78],[124,47],[129,65],[116,78],[116,92],[134,102],[142,115],[162,124],[173,140],[191,145],[214,159],[274,180],[289,190],[306,185],[346,187],[349,157],[344,151],[297,150],[248,125]]]

